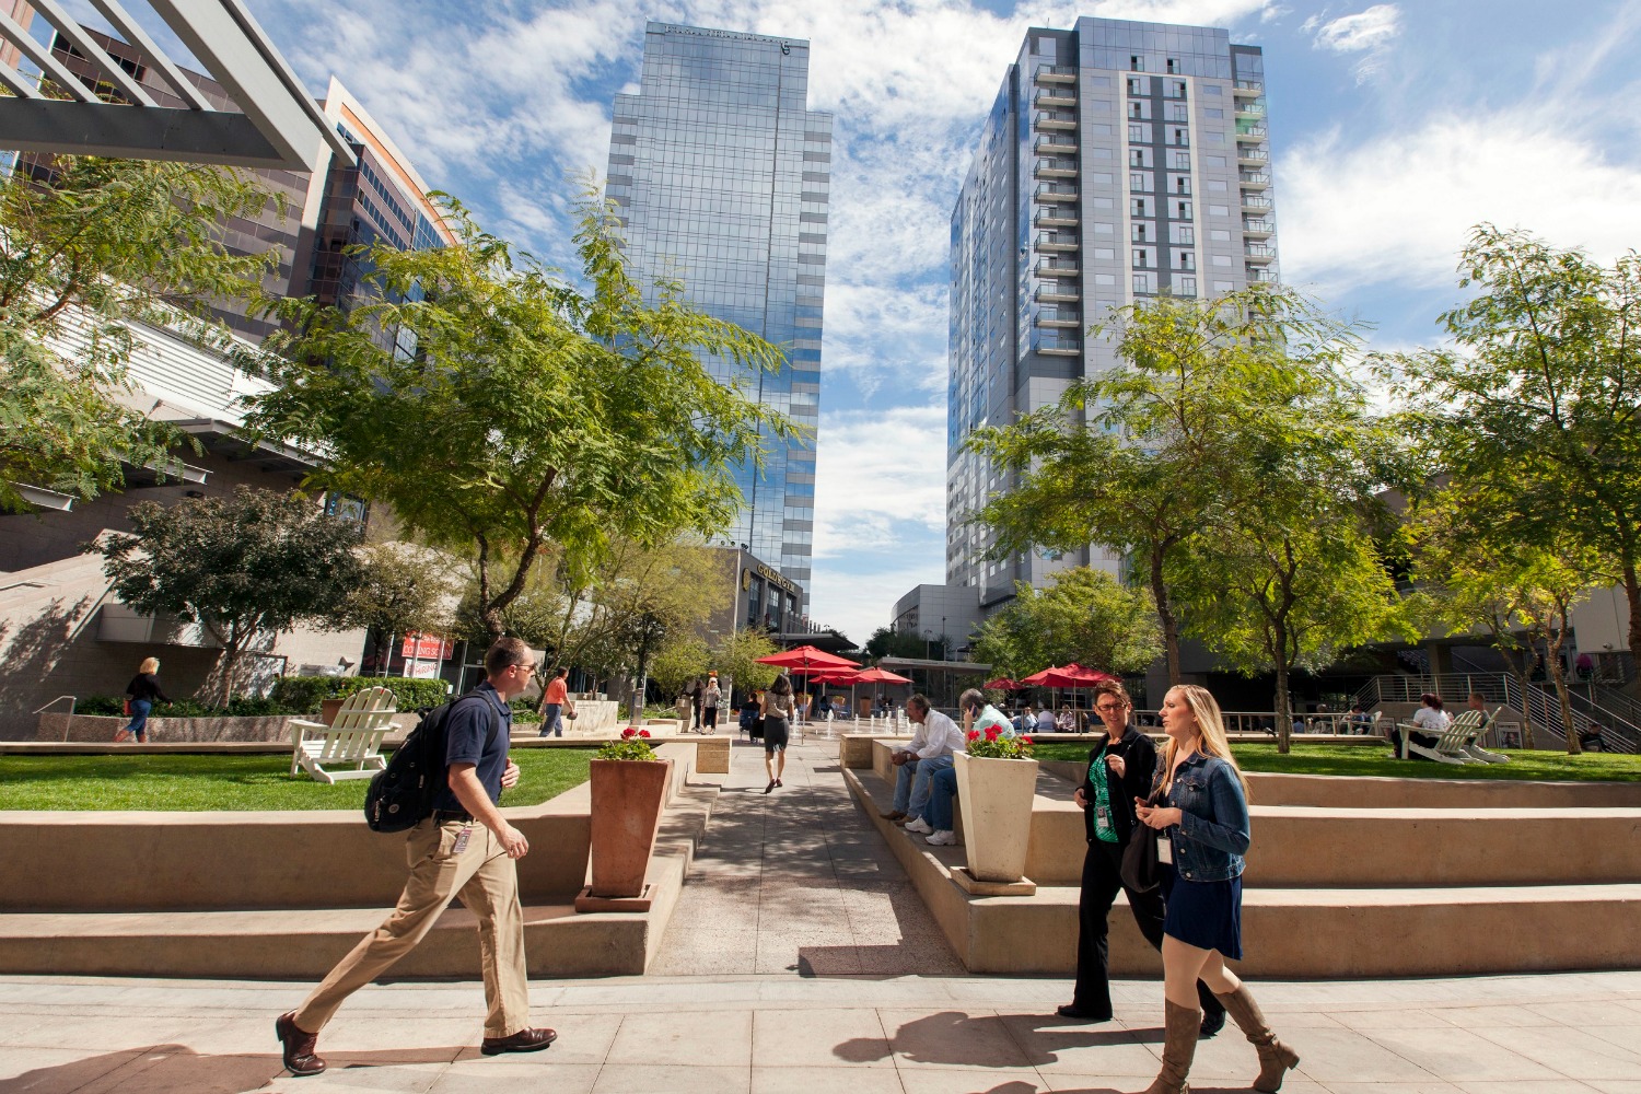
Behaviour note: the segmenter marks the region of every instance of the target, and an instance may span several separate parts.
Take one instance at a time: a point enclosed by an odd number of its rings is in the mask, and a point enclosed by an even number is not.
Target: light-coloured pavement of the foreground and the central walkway
[[[305,984],[13,976],[0,978],[0,1094],[1147,1086],[1160,984],[1116,984],[1118,1019],[1080,1025],[1052,1017],[1063,981],[944,974],[950,951],[868,838],[829,751],[796,748],[788,786],[770,795],[761,769],[760,751],[734,750],[656,971],[533,984],[537,1022],[560,1032],[545,1053],[478,1053],[476,982],[384,984],[325,1030],[331,1069],[292,1079],[279,1069],[272,1020]],[[1290,1094],[1641,1094],[1641,973],[1255,989],[1303,1056]],[[1193,1089],[1247,1089],[1254,1071],[1252,1048],[1227,1030],[1198,1051]]]

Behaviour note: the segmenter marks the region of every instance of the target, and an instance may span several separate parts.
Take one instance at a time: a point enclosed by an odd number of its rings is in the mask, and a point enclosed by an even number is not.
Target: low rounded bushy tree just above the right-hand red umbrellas
[[[1073,566],[1047,589],[1014,582],[1014,599],[980,628],[975,659],[1004,676],[1031,676],[1050,664],[1114,674],[1144,672],[1162,653],[1157,605],[1144,589]]]

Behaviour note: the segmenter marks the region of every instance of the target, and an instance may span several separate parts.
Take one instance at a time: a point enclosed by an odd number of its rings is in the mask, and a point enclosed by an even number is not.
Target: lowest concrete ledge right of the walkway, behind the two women
[[[953,881],[962,848],[930,848],[878,817],[889,791],[845,771],[850,792],[906,868],[971,973],[1070,978],[1075,886],[1031,897],[970,897]],[[1081,859],[1078,859],[1078,864]],[[1111,912],[1114,976],[1159,976],[1162,961],[1127,915]],[[1641,966],[1641,884],[1254,889],[1242,900],[1237,971],[1270,978],[1508,974]]]

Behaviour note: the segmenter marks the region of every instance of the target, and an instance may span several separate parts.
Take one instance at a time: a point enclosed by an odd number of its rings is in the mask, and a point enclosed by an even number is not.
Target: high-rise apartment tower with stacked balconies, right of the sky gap
[[[1116,571],[1098,545],[986,559],[968,523],[1011,489],[963,441],[1114,364],[1086,338],[1114,307],[1275,280],[1264,57],[1227,31],[1080,18],[1032,28],[952,212],[948,586],[981,609],[1057,569]]]

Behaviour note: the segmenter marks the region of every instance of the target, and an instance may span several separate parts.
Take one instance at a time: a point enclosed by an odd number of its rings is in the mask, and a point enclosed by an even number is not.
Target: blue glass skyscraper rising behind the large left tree
[[[819,423],[832,115],[807,110],[809,43],[650,23],[637,95],[617,95],[607,197],[629,271],[653,300],[679,280],[704,312],[779,346],[778,374],[704,364],[722,382]],[[816,454],[766,441],[761,472],[737,471],[745,499],[722,543],[747,545],[809,595]]]

